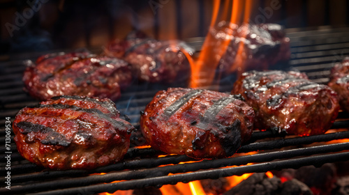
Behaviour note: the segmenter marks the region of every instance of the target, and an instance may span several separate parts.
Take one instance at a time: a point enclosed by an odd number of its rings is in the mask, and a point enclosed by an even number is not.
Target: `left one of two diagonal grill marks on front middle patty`
[[[186,104],[188,100],[190,100],[191,98],[194,98],[196,95],[199,95],[202,92],[203,90],[200,90],[200,89],[189,91],[188,93],[186,93],[186,95],[183,95],[181,98],[179,98],[174,103],[172,103],[169,107],[167,107],[163,111],[163,116],[165,116],[165,118],[170,118],[170,116],[172,116],[178,109],[180,109],[184,104]]]

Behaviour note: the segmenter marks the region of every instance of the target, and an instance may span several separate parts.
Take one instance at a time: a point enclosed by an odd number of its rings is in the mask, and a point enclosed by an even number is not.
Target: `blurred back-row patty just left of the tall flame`
[[[190,75],[191,56],[184,47],[188,47],[184,42],[160,41],[133,32],[124,40],[114,40],[105,52],[130,63],[140,81],[170,84],[186,81]]]

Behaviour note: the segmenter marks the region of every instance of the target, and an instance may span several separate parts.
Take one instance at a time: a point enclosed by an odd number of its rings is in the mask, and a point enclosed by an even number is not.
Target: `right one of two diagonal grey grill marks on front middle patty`
[[[214,104],[211,107],[209,107],[209,109],[205,111],[204,116],[202,117],[200,122],[197,123],[195,126],[199,127],[202,130],[206,130],[207,124],[214,122],[214,119],[216,118],[219,111],[221,111],[224,107],[228,106],[228,104],[230,104],[234,100],[235,98],[232,98],[232,96],[220,98],[219,100],[214,102]]]

